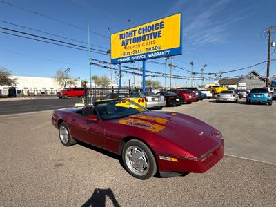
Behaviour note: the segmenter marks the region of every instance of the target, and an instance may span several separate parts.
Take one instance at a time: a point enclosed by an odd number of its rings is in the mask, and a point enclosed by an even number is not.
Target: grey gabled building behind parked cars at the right
[[[266,79],[259,72],[252,70],[245,77],[221,79],[219,85],[235,89],[264,88]]]

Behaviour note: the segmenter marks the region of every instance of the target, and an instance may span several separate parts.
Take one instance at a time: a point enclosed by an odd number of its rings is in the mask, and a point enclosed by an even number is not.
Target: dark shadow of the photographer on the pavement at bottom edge
[[[91,197],[83,205],[81,205],[81,207],[105,207],[107,198],[109,198],[112,201],[114,207],[120,206],[118,201],[115,199],[114,193],[110,188],[95,188]]]

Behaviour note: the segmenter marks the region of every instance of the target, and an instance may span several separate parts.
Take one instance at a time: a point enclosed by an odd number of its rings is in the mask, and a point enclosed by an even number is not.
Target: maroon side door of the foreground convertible
[[[104,148],[104,128],[102,121],[88,121],[80,114],[72,115],[72,136],[80,141]]]

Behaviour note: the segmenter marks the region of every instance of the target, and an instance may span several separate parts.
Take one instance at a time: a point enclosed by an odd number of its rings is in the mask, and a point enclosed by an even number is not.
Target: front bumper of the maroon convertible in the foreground
[[[189,157],[177,157],[177,162],[166,161],[159,158],[158,153],[155,153],[157,161],[159,164],[160,172],[197,172],[203,173],[209,170],[211,167],[215,166],[219,160],[224,157],[224,141],[221,141],[221,144],[215,148],[215,150],[208,153],[208,155],[203,158],[189,159]],[[165,155],[168,156],[168,155]],[[172,155],[169,155],[172,156]]]

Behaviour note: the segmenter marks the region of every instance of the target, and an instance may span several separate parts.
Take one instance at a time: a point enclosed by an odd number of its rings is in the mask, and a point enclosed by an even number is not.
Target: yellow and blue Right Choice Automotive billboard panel
[[[181,13],[111,34],[111,62],[182,54]]]

